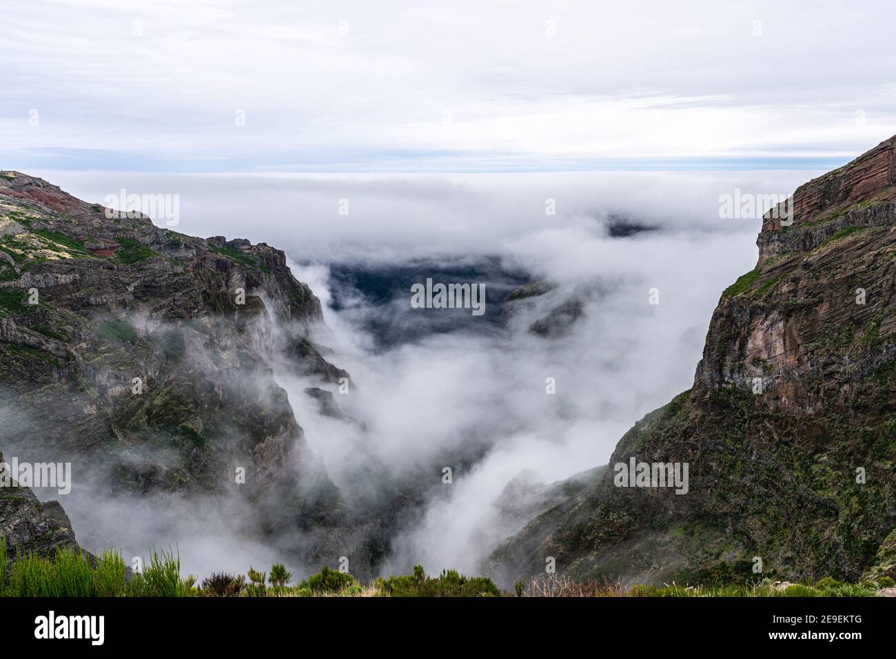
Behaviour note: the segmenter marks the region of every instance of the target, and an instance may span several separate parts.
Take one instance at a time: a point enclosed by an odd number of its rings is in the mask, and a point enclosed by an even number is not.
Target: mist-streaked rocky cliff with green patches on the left
[[[0,449],[98,492],[236,492],[259,526],[321,524],[339,492],[270,364],[338,381],[283,252],[116,217],[0,172]],[[240,478],[240,471],[244,475]]]

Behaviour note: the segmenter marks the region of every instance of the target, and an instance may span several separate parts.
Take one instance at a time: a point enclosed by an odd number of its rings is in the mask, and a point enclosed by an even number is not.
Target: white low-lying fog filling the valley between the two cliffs
[[[720,218],[719,195],[788,194],[814,173],[39,175],[91,202],[121,188],[178,194],[171,228],[285,250],[323,303],[327,328],[316,340],[356,385],[336,398],[366,424],[319,415],[303,393],[312,383],[279,370],[308,443],[355,501],[432,460],[452,466],[452,484],[422,522],[395,530],[385,569],[470,572],[517,530],[491,508],[515,475],[528,469],[550,483],[604,464],[636,420],[690,388],[720,292],[756,261],[760,220]],[[494,299],[482,316],[411,308],[415,272],[420,283],[484,283],[501,297],[526,280],[555,288],[520,304],[502,329]],[[568,331],[528,330],[571,296],[582,315]],[[461,466],[470,441],[485,455]],[[435,484],[442,476],[433,470]],[[151,543],[177,542],[195,573],[290,563],[229,534],[225,511],[166,527],[175,516],[150,523],[118,507],[104,521],[77,501],[63,504],[80,537],[144,555]]]

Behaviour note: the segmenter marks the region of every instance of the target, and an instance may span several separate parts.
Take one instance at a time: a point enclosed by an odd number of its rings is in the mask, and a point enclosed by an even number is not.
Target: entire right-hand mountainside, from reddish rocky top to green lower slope
[[[547,557],[630,583],[892,576],[894,175],[896,138],[801,186],[789,225],[766,216],[757,266],[722,294],[693,389],[496,551],[499,578],[536,574]],[[616,486],[630,458],[688,463],[688,492]]]

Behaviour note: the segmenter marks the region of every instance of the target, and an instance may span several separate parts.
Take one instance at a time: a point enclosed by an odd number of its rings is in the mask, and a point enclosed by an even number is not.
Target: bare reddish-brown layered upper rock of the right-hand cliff
[[[862,378],[892,361],[896,272],[894,141],[810,181],[790,226],[769,214],[755,270],[713,314],[695,393],[752,389],[794,415],[847,405]]]

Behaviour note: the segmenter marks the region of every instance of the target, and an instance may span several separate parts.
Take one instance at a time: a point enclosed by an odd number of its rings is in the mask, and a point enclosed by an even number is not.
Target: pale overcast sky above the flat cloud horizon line
[[[830,169],[896,133],[894,19],[891,0],[8,3],[0,168]]]

